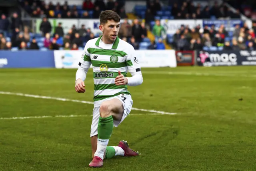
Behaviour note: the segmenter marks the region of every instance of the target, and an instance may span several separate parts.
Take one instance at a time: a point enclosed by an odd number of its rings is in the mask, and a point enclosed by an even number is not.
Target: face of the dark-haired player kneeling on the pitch
[[[120,29],[120,22],[108,20],[106,24],[100,25],[100,29],[102,30],[103,36],[107,40],[107,42],[113,43],[118,35]]]

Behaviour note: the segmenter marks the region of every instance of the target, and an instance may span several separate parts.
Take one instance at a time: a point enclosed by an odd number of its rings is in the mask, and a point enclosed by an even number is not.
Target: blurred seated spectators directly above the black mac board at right
[[[251,29],[244,23],[235,26],[234,31],[227,31],[224,25],[216,29],[214,25],[200,28],[188,28],[182,25],[169,42],[176,50],[203,50],[212,47],[218,50],[256,50],[256,23]],[[217,49],[216,49],[217,50]]]

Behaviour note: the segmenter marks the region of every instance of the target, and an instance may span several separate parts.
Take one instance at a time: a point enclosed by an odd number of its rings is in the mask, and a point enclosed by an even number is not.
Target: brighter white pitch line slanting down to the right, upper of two
[[[12,92],[5,92],[5,91],[0,91],[0,94],[18,95],[18,96],[24,96],[24,97],[40,98],[40,99],[53,99],[53,100],[59,100],[59,101],[73,101],[73,102],[77,102],[77,103],[94,104],[91,101],[82,101],[82,100],[75,100],[75,99],[65,99],[65,98],[60,98],[60,97],[49,97],[49,96],[41,96],[41,95],[23,94],[23,93],[12,93]],[[151,113],[160,113],[160,114],[166,114],[166,115],[176,115],[177,114],[177,113],[170,113],[170,112],[165,112],[165,111],[138,109],[138,108],[133,108],[133,107],[132,107],[132,110],[146,111],[146,112],[151,112]]]

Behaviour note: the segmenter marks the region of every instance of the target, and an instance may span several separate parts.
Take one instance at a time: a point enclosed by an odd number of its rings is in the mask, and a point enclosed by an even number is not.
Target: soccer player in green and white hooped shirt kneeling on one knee
[[[136,86],[143,82],[135,50],[118,38],[119,28],[120,16],[116,12],[101,12],[99,29],[102,36],[86,43],[76,72],[76,92],[84,93],[84,80],[92,64],[94,109],[90,133],[93,159],[90,167],[102,167],[103,159],[116,155],[138,155],[126,141],[107,147],[113,127],[118,127],[132,109],[132,96],[127,85]],[[127,72],[132,77],[126,77]]]

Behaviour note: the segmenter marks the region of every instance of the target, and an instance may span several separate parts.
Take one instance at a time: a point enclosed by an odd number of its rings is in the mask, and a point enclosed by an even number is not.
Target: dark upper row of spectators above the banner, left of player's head
[[[24,0],[22,6],[28,14],[36,18],[43,16],[47,18],[99,18],[102,10],[113,10],[122,18],[126,18],[124,0],[108,0],[107,3],[104,0],[95,0],[94,3],[91,0],[84,0],[81,6],[70,6],[68,1],[63,5],[60,3],[54,5],[52,2],[46,4],[44,0]]]

